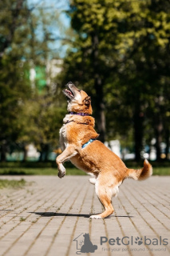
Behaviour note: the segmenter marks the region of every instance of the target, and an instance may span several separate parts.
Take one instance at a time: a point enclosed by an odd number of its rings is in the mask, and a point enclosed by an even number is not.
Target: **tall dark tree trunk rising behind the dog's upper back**
[[[101,142],[105,142],[105,102],[104,102],[104,93],[103,93],[103,81],[100,75],[99,69],[99,59],[98,59],[98,43],[99,39],[97,33],[92,33],[92,42],[93,42],[93,76],[94,76],[94,89],[96,91],[95,95],[95,105],[97,109],[97,131],[100,134]]]

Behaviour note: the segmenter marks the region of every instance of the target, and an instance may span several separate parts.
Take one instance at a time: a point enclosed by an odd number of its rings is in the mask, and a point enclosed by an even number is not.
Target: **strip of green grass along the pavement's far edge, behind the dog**
[[[128,168],[139,169],[143,162],[125,162]],[[170,162],[151,162],[153,175],[170,175]],[[66,175],[85,175],[69,162],[65,163]],[[0,175],[57,175],[55,162],[6,162],[0,163]]]

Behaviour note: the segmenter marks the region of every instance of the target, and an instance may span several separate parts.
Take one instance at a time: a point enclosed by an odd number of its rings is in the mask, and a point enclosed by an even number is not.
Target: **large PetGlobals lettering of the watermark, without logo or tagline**
[[[168,238],[148,238],[144,236],[144,238],[140,237],[128,237],[125,236],[123,238],[107,238],[101,237],[100,244],[101,246],[105,245],[105,243],[109,243],[109,246],[129,246],[129,245],[144,245],[144,246],[167,246],[168,245]]]

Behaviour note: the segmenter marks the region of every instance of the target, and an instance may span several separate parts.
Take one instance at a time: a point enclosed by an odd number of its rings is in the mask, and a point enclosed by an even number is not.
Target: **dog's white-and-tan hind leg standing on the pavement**
[[[103,182],[102,182],[103,183]],[[110,183],[110,181],[101,184],[100,179],[97,178],[95,184],[96,194],[105,210],[101,214],[91,215],[90,218],[105,218],[113,214],[112,196],[118,192],[117,186]]]

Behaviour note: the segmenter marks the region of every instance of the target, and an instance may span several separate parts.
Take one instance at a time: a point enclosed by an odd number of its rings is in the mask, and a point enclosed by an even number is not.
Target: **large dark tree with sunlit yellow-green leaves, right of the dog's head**
[[[62,79],[79,81],[92,94],[101,141],[106,138],[105,117],[114,126],[111,133],[107,130],[111,137],[118,126],[121,134],[128,134],[133,127],[136,161],[140,160],[146,123],[150,127],[151,122],[158,123],[153,120],[156,94],[167,91],[164,82],[169,77],[168,10],[169,2],[161,0],[74,0],[68,12],[77,36],[65,58]],[[106,103],[109,98],[110,104]],[[164,94],[165,98],[168,102]],[[107,111],[112,109],[111,113]],[[164,110],[157,112],[160,121],[165,117]],[[116,114],[114,122],[112,113]],[[154,130],[151,127],[151,138],[159,129],[157,125]],[[156,138],[160,145],[161,139],[158,135]]]

